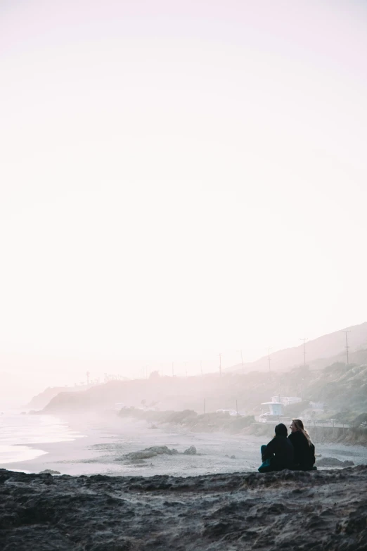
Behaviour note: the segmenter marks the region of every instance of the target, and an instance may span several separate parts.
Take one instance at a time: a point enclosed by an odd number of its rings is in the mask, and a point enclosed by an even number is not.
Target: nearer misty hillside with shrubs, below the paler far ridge
[[[324,402],[335,417],[347,421],[367,412],[367,365],[346,366],[338,362],[323,369],[296,367],[283,373],[227,373],[204,377],[160,377],[133,381],[110,381],[79,393],[59,393],[44,412],[87,412],[114,409],[116,403],[126,407],[159,410],[195,410],[198,413],[218,409],[236,409],[247,414],[262,412],[261,404],[271,396],[301,396],[309,401]],[[292,406],[294,409],[296,406]],[[297,406],[300,407],[300,406]],[[298,410],[288,412],[298,414]]]

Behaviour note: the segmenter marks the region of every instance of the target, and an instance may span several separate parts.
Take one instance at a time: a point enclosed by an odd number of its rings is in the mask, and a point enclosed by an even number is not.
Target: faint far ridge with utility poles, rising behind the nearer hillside
[[[349,345],[349,363],[367,361],[367,322],[347,328]],[[303,365],[303,344],[293,348],[285,348],[271,353],[271,371],[287,371],[292,367]],[[342,330],[315,338],[306,342],[306,363],[311,369],[326,367],[333,362],[346,361],[345,334]],[[244,364],[245,372],[269,371],[268,357],[263,356],[255,362]],[[242,365],[227,367],[225,371],[242,372]]]

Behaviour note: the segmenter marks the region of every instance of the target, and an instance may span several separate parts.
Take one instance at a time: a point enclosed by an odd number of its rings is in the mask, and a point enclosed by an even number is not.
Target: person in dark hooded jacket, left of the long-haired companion
[[[268,445],[262,445],[262,466],[259,467],[259,473],[290,469],[294,460],[294,450],[287,434],[285,424],[276,425],[273,440]]]

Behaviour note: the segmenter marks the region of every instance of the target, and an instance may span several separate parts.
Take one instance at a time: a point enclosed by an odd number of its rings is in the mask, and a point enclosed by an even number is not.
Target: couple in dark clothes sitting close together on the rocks
[[[301,419],[292,419],[291,433],[288,436],[287,427],[280,423],[276,425],[275,436],[268,445],[262,445],[262,466],[260,473],[292,469],[311,471],[316,469],[315,446],[304,429]]]

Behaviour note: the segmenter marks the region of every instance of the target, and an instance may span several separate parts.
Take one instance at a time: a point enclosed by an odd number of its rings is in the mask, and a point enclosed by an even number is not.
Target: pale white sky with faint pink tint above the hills
[[[366,321],[366,24],[2,0],[1,370],[195,374]]]

